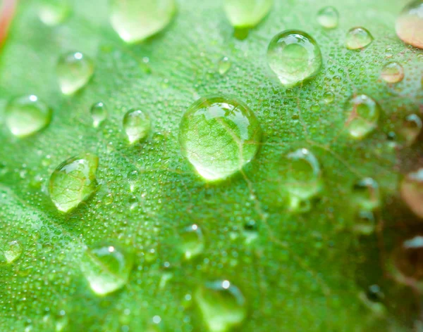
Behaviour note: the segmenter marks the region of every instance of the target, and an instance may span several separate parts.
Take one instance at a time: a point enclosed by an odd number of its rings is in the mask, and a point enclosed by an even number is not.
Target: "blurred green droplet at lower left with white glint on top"
[[[125,286],[133,268],[132,253],[115,245],[97,245],[85,251],[81,269],[97,295],[107,295]]]

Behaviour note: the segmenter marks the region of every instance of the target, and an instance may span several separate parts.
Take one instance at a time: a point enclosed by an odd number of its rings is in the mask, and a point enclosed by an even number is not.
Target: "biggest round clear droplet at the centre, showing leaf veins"
[[[200,98],[179,127],[183,155],[210,181],[240,171],[259,150],[262,129],[252,110],[233,96]]]

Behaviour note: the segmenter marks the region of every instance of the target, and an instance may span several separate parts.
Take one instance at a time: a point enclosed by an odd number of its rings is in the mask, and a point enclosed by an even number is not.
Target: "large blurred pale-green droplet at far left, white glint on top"
[[[6,106],[6,125],[15,136],[30,136],[49,125],[51,114],[51,108],[37,96],[23,96]]]

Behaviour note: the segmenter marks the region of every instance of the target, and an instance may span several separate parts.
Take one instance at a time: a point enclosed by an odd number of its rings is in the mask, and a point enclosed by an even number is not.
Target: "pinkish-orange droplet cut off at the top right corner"
[[[423,0],[405,6],[396,21],[396,33],[405,43],[423,49]]]

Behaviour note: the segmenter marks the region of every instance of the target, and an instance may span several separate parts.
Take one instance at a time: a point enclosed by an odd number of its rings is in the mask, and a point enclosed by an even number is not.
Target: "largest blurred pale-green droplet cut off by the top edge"
[[[175,0],[112,0],[110,20],[121,39],[136,43],[164,30],[175,13]]]

